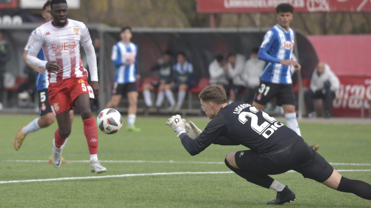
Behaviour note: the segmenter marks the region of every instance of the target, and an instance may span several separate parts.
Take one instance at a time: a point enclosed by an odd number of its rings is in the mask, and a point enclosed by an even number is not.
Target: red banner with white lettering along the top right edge
[[[275,12],[289,3],[295,12],[371,11],[370,0],[197,0],[199,13]]]

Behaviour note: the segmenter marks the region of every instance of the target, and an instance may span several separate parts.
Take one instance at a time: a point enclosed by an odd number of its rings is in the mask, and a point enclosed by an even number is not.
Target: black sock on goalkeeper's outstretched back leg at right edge
[[[371,200],[371,185],[358,180],[341,177],[338,191],[353,193],[358,197]]]

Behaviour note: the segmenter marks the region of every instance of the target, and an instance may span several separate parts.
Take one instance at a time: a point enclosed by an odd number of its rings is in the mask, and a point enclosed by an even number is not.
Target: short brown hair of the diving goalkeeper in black
[[[212,84],[204,88],[201,93],[198,94],[198,98],[204,102],[213,102],[216,104],[227,103],[226,92],[217,84]]]

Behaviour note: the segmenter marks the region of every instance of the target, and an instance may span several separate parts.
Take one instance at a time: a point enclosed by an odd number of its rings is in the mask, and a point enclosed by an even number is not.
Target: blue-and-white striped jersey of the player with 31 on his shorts
[[[276,84],[291,84],[290,66],[280,64],[280,60],[292,59],[295,32],[286,31],[278,24],[267,31],[260,46],[258,57],[265,61],[260,80]]]

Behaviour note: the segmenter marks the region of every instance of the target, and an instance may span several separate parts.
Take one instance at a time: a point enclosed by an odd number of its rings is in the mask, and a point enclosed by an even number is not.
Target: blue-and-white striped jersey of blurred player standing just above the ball
[[[138,65],[137,65],[138,46],[134,43],[126,45],[119,41],[112,47],[111,59],[116,67],[114,82],[119,84],[135,83],[137,81]],[[135,63],[123,65],[122,63],[135,60]]]

